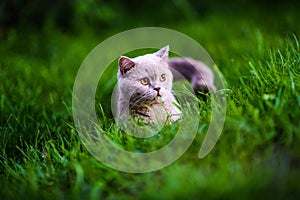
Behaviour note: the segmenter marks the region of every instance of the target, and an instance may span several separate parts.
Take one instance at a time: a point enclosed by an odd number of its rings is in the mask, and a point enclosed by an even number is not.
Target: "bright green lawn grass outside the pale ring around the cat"
[[[145,174],[106,167],[74,129],[76,72],[105,38],[89,31],[11,30],[0,47],[0,199],[298,199],[299,15],[278,13],[277,23],[261,20],[264,16],[262,11],[212,13],[168,26],[196,39],[215,60],[229,89],[227,116],[207,157],[197,157],[209,124],[209,112],[203,112],[188,151],[172,165]]]

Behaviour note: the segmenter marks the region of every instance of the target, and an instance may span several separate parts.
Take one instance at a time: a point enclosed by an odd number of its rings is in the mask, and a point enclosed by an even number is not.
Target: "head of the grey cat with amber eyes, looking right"
[[[140,103],[166,98],[171,93],[173,81],[168,55],[169,46],[136,58],[121,56],[118,85],[122,95]]]

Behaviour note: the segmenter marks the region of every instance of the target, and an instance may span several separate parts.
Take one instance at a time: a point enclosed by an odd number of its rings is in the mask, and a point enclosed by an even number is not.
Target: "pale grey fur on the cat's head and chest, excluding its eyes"
[[[167,119],[180,119],[180,110],[172,94],[173,75],[168,67],[168,49],[136,58],[119,59],[117,117],[129,120],[130,116],[144,123],[165,123]],[[160,77],[164,74],[165,81]],[[150,84],[141,84],[149,78]],[[159,91],[157,91],[157,89]]]

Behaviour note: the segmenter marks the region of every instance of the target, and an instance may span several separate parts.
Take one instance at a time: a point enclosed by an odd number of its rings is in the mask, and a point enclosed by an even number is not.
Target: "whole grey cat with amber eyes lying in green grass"
[[[121,56],[118,64],[117,117],[123,121],[159,124],[179,120],[173,76],[175,81],[183,77],[191,81],[195,91],[215,91],[207,66],[190,58],[169,58],[169,46],[135,58]]]

